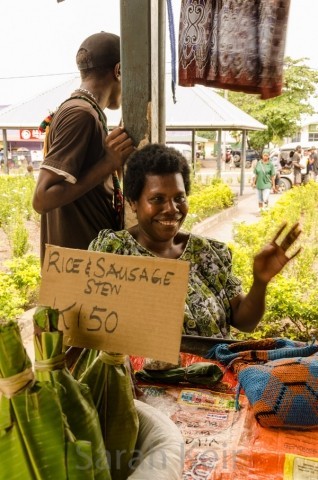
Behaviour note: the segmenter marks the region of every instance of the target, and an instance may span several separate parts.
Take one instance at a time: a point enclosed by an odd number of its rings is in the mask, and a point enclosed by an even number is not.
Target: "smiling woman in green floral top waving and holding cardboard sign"
[[[268,282],[290,260],[287,249],[276,243],[277,236],[254,258],[254,283],[245,296],[232,273],[228,247],[181,230],[188,213],[190,169],[177,150],[158,144],[136,150],[127,162],[124,191],[136,225],[116,232],[102,230],[90,250],[187,261],[183,333],[228,338],[231,326],[252,331],[264,313]],[[284,245],[293,245],[300,234],[297,228],[287,233]]]

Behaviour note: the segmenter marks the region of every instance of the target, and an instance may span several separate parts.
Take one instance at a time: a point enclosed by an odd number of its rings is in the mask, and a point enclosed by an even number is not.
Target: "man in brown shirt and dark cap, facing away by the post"
[[[33,197],[41,214],[42,263],[46,243],[87,249],[101,229],[122,228],[116,171],[133,144],[122,128],[108,135],[103,112],[121,105],[120,38],[91,35],[76,63],[81,84],[53,114]]]

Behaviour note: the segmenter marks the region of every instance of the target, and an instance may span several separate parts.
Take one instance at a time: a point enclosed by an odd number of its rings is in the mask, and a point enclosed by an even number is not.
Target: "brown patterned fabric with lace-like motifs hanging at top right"
[[[179,84],[281,94],[290,0],[182,0]]]

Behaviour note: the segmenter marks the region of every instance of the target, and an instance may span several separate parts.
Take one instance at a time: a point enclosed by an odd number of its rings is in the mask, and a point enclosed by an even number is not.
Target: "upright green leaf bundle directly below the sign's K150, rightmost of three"
[[[99,414],[112,480],[126,480],[139,420],[125,356],[100,352],[80,381],[90,387]]]

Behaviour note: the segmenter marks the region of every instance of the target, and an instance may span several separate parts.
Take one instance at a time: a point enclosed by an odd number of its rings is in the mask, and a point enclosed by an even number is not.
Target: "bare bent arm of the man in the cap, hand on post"
[[[122,128],[113,130],[106,138],[105,145],[104,158],[76,183],[66,181],[62,174],[41,168],[33,196],[34,210],[46,213],[80,198],[114,171],[120,170],[133,151],[132,140]]]

